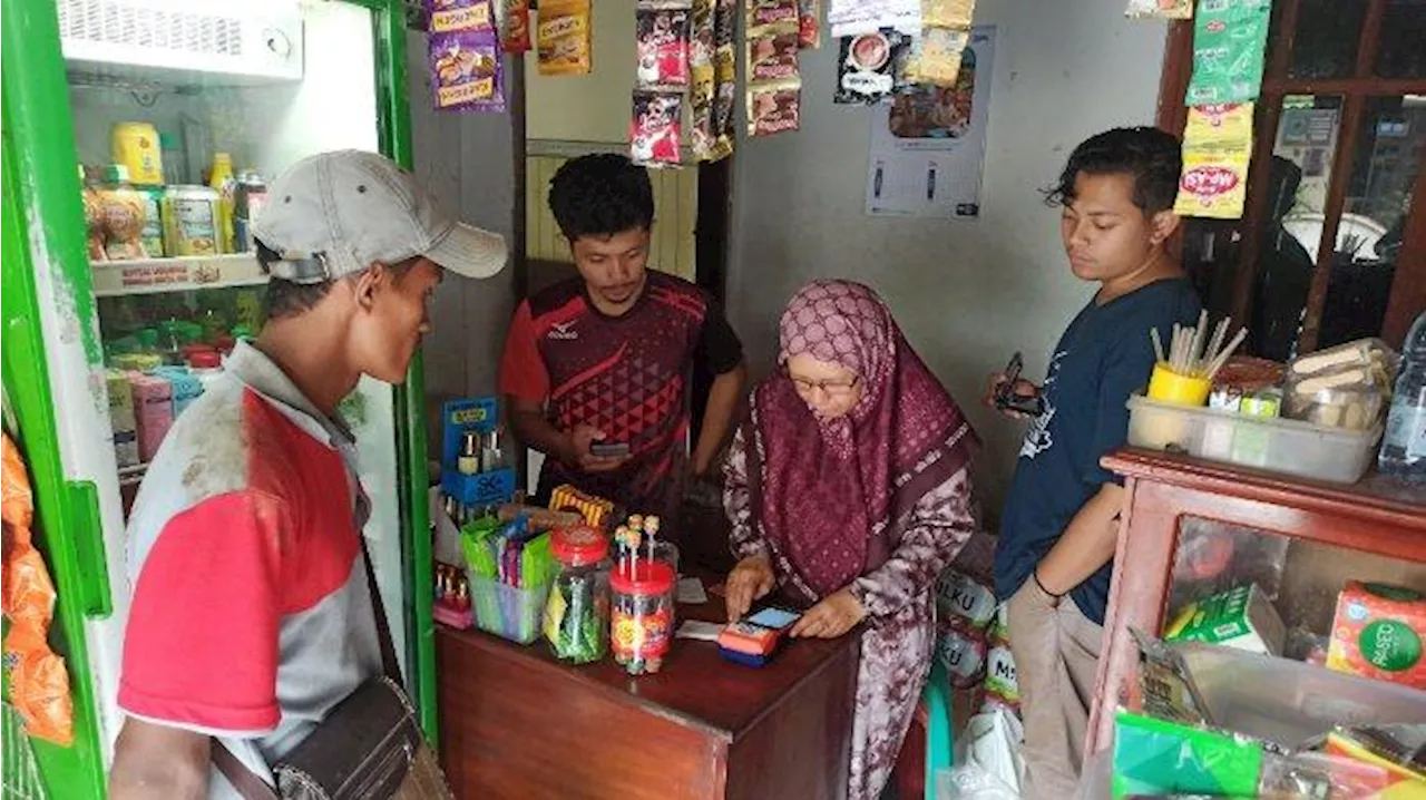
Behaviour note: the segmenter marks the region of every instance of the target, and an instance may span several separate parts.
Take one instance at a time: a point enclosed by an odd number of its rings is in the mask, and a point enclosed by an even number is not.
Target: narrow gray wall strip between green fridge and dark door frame
[[[453,215],[515,241],[515,121],[511,114],[432,110],[425,36],[406,39],[415,171]],[[509,64],[509,61],[506,61]],[[513,97],[519,81],[506,71]],[[448,277],[432,301],[435,331],[422,347],[428,455],[439,458],[441,404],[493,394],[505,329],[515,311],[515,262],[486,281]]]

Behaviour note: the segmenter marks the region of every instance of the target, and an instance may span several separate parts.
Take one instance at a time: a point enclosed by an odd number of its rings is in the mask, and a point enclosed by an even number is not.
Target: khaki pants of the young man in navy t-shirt
[[[1034,578],[1010,599],[1010,649],[1025,720],[1025,800],[1075,794],[1102,640],[1104,627],[1068,596],[1055,606]]]

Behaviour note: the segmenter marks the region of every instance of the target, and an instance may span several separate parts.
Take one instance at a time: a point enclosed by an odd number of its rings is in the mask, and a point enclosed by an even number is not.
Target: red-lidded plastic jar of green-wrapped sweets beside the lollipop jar
[[[550,535],[559,575],[545,603],[545,639],[555,657],[588,665],[609,649],[609,540],[583,525]]]

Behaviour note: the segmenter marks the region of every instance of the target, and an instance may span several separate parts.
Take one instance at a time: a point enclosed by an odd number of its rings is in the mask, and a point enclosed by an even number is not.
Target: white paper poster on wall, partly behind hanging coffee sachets
[[[975,27],[954,87],[918,86],[871,108],[867,214],[980,217],[995,29]]]

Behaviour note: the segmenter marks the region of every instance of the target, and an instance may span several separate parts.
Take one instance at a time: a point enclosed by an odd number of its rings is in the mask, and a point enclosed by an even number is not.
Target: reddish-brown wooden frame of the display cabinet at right
[[[1104,465],[1125,478],[1127,499],[1088,754],[1111,744],[1117,707],[1134,707],[1138,647],[1129,629],[1161,633],[1185,599],[1185,576],[1205,558],[1224,558],[1204,548],[1204,536],[1253,542],[1246,556],[1256,563],[1242,569],[1275,582],[1268,595],[1299,640],[1330,632],[1349,579],[1426,589],[1426,486],[1375,475],[1343,486],[1137,449]],[[1214,569],[1199,569],[1199,578]],[[1239,565],[1231,569],[1241,579]]]

